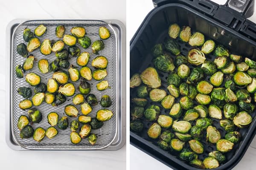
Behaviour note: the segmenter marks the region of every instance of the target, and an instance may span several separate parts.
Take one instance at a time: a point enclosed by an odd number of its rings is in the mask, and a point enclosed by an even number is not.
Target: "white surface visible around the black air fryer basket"
[[[218,4],[224,4],[226,0],[212,0]],[[130,0],[130,26],[127,30],[129,40],[137,31],[138,27],[146,17],[146,15],[154,8],[151,0]],[[256,9],[254,10],[255,14],[249,19],[256,23]],[[256,160],[256,137],[253,139],[253,142],[248,147],[244,157],[241,159],[239,164],[234,167],[234,170],[255,170],[255,160]],[[146,153],[137,149],[136,147],[130,145],[130,169],[131,170],[171,170],[165,164],[157,161],[151,156],[148,156]]]

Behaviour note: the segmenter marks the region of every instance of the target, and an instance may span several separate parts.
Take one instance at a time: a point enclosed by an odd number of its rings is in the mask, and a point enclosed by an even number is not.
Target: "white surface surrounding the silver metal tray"
[[[118,151],[14,151],[5,141],[5,34],[25,19],[117,19],[126,25],[122,0],[0,0],[0,169],[125,170],[126,146]],[[9,56],[8,56],[9,57]]]

